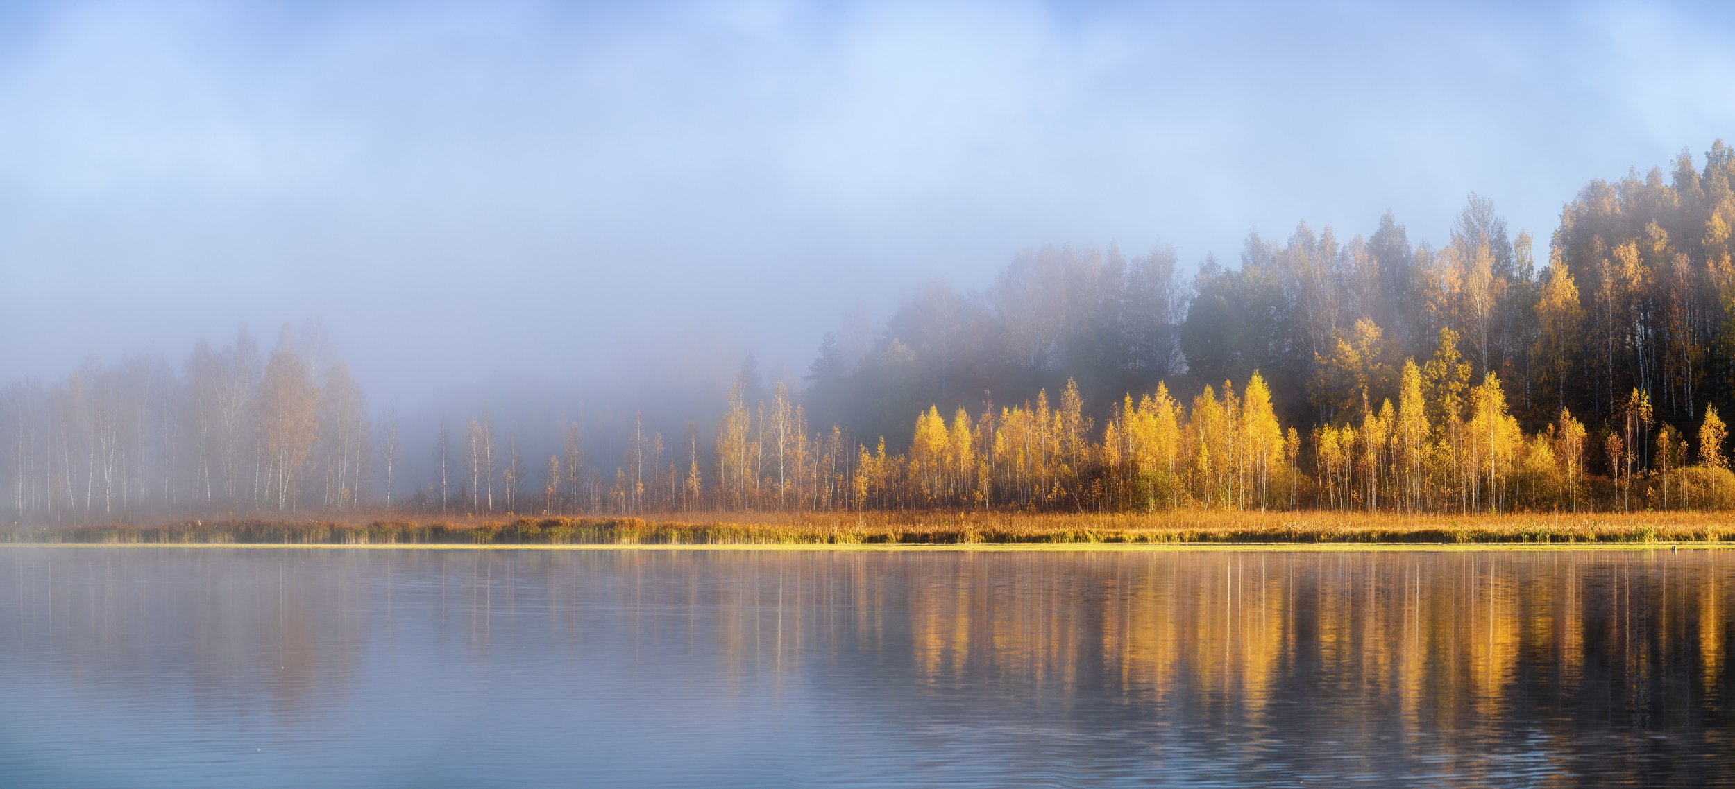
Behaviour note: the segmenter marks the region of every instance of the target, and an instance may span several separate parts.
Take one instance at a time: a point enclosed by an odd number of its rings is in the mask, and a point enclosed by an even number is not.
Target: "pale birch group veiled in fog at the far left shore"
[[[3,501],[12,520],[125,520],[154,512],[370,505],[375,430],[323,336],[285,329],[262,357],[245,331],[200,342],[182,369],[156,357],[95,361],[0,392]],[[385,428],[390,479],[396,427]]]

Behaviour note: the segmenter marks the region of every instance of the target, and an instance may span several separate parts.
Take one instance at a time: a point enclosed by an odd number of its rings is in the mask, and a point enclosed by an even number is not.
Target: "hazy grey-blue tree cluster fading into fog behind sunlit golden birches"
[[[904,300],[874,347],[847,357],[826,336],[805,401],[857,435],[900,434],[932,404],[985,408],[984,392],[1135,392],[1187,369],[1188,286],[1169,250],[1126,258],[1079,248],[1020,255],[984,293],[930,283]]]

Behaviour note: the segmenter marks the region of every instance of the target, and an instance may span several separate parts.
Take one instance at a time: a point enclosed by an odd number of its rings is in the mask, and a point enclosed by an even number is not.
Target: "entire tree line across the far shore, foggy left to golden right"
[[[370,420],[321,338],[285,331],[267,355],[243,333],[179,368],[88,362],[0,392],[0,506],[1719,508],[1732,184],[1721,140],[1699,166],[1593,180],[1541,269],[1478,196],[1438,246],[1390,213],[1348,241],[1303,224],[1192,277],[1161,248],[1034,250],[982,291],[930,284],[878,333],[828,335],[800,390],[744,369],[715,430],[665,440],[637,418],[597,460],[576,423],[520,440],[481,413],[441,420],[413,480],[397,420]]]

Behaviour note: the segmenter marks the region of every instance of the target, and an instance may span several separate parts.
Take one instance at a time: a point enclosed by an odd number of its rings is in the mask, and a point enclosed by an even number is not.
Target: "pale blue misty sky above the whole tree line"
[[[1546,243],[1719,135],[1714,7],[7,5],[0,380],[307,319],[375,402],[798,375],[1022,248],[1438,243],[1471,191]]]

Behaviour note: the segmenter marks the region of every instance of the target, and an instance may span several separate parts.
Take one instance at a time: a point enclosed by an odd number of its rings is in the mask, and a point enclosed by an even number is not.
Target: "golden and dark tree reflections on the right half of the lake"
[[[1015,553],[864,579],[907,590],[881,614],[907,617],[928,683],[985,671],[1057,697],[1110,683],[1152,714],[1277,730],[1313,706],[1345,732],[1390,725],[1416,744],[1497,737],[1516,718],[1565,735],[1716,709],[1728,564],[1719,551]]]

